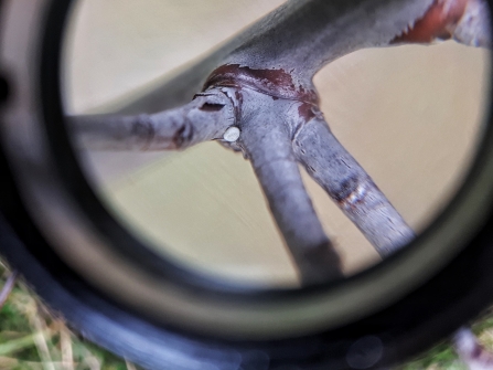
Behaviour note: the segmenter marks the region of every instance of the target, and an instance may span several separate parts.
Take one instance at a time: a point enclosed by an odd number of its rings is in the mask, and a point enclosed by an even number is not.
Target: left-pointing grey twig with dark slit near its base
[[[93,150],[175,150],[223,138],[234,125],[234,107],[223,89],[208,91],[175,109],[137,116],[67,117],[77,144]]]

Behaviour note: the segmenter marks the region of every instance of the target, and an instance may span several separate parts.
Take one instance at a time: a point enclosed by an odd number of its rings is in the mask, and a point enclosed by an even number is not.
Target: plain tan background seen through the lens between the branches
[[[66,56],[69,112],[108,101],[200,56],[280,0],[82,0]],[[487,52],[446,42],[364,50],[315,84],[333,131],[419,231],[461,182],[481,129]],[[228,278],[297,284],[249,163],[208,142],[180,154],[87,154],[109,208],[153,247]],[[347,273],[378,261],[304,176]]]

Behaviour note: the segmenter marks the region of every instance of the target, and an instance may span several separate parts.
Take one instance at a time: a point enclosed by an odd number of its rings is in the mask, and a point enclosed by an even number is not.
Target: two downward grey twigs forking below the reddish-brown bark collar
[[[312,86],[296,86],[283,70],[224,65],[212,73],[204,86],[221,87],[235,88],[235,105],[239,107],[236,112],[240,115],[236,120],[242,130],[236,145],[251,161],[303,284],[322,283],[343,273],[341,260],[304,189],[298,163],[382,255],[412,240],[410,228],[333,137]]]

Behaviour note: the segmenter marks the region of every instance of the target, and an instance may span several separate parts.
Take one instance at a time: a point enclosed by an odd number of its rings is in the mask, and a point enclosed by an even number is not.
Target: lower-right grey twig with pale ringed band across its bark
[[[415,234],[365,170],[344,149],[321,118],[297,133],[294,152],[310,176],[329,193],[382,256]]]

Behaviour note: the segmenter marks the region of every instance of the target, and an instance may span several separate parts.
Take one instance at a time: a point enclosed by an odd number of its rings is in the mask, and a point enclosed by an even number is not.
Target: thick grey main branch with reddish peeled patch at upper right
[[[440,8],[444,2],[447,7]],[[449,9],[450,3],[467,4],[462,17],[439,13],[440,27],[430,28],[437,20],[430,14],[437,14],[437,7]],[[161,78],[158,86],[139,94],[119,113],[160,112],[185,104],[211,72],[224,64],[283,70],[294,75],[297,83],[311,85],[323,65],[363,47],[429,43],[450,36],[490,47],[490,18],[484,0],[291,0],[205,57]]]

